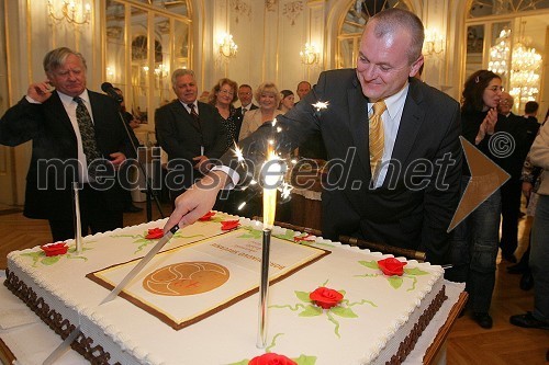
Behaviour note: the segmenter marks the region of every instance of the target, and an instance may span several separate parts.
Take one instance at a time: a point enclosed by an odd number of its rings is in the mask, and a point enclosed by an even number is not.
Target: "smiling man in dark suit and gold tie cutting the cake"
[[[446,263],[461,178],[460,113],[455,100],[414,78],[423,64],[423,24],[413,13],[390,9],[376,14],[362,34],[356,70],[321,73],[304,102],[277,117],[276,128],[264,124],[240,147],[246,151],[274,133],[293,148],[321,130],[329,161],[323,235],[419,249],[428,261]],[[369,114],[381,101],[386,105],[379,112],[383,152],[372,173],[370,160],[379,153],[370,148],[369,129],[374,128]],[[222,160],[235,168],[231,158]],[[213,170],[177,199],[165,229],[197,220],[216,190],[240,175],[226,167]]]

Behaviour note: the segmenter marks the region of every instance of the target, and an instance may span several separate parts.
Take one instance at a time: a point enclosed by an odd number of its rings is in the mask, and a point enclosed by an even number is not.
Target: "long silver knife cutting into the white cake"
[[[144,255],[143,259],[141,259],[141,261],[137,263],[137,265],[135,265],[135,267],[132,269],[132,271],[130,273],[127,273],[126,276],[124,276],[122,282],[120,282],[119,285],[116,285],[114,287],[114,289],[112,289],[112,292],[109,293],[109,295],[99,305],[101,306],[102,304],[105,304],[105,303],[114,299],[119,295],[119,293],[122,292],[122,289],[127,285],[127,283],[130,283],[143,270],[143,267],[145,267],[145,265],[150,260],[153,260],[153,258],[158,253],[158,251],[161,250],[163,247],[166,246],[166,243],[168,243],[168,241],[173,237],[173,235],[178,230],[179,230],[178,225],[171,227],[171,229],[166,235],[164,235],[164,237],[160,238],[158,240],[158,242],[156,242],[156,244],[150,249],[150,251],[148,251],[147,254]],[[49,356],[47,356],[47,358],[44,361],[44,363],[42,363],[42,365],[52,365],[57,358],[59,358],[68,350],[68,347],[70,347],[70,344],[72,343],[72,341],[76,340],[76,338],[79,334],[80,334],[80,324],[78,324],[72,330],[72,332],[69,333],[69,335],[65,339],[65,341],[63,341],[61,344],[59,344],[57,346],[57,349],[55,349],[49,354]]]

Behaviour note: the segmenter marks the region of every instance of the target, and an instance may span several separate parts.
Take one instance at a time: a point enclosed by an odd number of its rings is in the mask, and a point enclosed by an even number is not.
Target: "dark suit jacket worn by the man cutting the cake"
[[[304,101],[277,116],[277,128],[283,132],[276,136],[283,139],[279,145],[294,148],[315,132],[322,133],[330,161],[322,194],[323,236],[347,235],[425,250],[430,262],[447,262],[447,229],[458,205],[461,176],[459,104],[410,79],[392,156],[395,162],[383,186],[374,190],[369,187],[368,99],[355,69],[322,72]],[[318,101],[328,102],[327,109],[315,110],[312,104]],[[274,130],[264,124],[240,141],[243,150],[265,148],[261,141],[270,133]],[[442,162],[445,156],[451,166]],[[226,163],[229,159],[223,158]],[[432,169],[413,176],[418,162]]]

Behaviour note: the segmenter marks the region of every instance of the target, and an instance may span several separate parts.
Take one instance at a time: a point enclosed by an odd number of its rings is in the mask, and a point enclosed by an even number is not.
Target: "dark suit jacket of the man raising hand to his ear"
[[[113,152],[130,156],[131,146],[117,103],[104,94],[92,91],[88,94],[100,152],[105,159]],[[56,91],[43,104],[32,104],[23,98],[2,116],[0,144],[18,146],[29,140],[32,140],[33,149],[26,175],[24,215],[29,218],[71,219],[72,182],[78,181],[77,138]],[[114,184],[101,194],[105,209],[122,212],[119,189]]]

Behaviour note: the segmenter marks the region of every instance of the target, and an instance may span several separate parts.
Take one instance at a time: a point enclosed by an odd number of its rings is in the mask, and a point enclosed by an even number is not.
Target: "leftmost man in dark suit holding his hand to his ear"
[[[82,232],[122,227],[114,170],[125,161],[130,145],[119,105],[86,89],[86,60],[79,53],[51,50],[44,71],[47,81],[32,83],[0,121],[2,145],[32,140],[24,215],[48,219],[54,241],[75,238],[72,182],[80,182]]]

